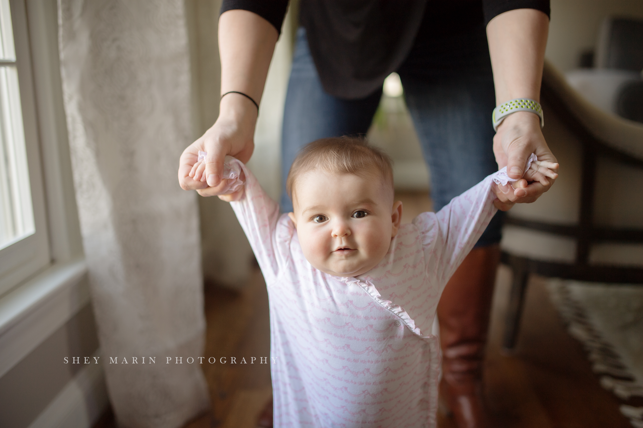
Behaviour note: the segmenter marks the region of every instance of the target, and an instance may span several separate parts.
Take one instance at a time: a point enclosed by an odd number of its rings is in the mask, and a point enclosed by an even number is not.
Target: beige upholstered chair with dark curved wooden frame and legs
[[[502,261],[513,271],[509,350],[531,273],[643,285],[643,124],[595,107],[548,63],[541,104],[560,171],[550,191],[515,205],[505,223]]]

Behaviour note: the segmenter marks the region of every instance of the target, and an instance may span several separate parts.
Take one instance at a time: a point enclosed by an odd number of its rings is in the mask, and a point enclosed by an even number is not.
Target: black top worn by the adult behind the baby
[[[224,0],[221,13],[244,9],[281,31],[288,0]],[[486,25],[500,13],[529,8],[549,16],[549,0],[301,0],[300,24],[326,92],[364,98],[407,56]]]

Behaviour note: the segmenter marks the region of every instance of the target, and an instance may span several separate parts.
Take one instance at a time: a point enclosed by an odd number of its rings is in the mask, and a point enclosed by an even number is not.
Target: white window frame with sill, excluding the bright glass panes
[[[57,3],[10,0],[10,7],[34,221],[44,234],[32,247],[35,257],[0,278],[0,377],[89,303],[60,81]],[[21,246],[5,250],[6,257],[23,257]]]

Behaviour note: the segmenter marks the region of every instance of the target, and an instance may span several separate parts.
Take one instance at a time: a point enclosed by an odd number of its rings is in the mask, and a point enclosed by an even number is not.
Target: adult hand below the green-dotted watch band
[[[507,175],[511,178],[523,176],[531,153],[536,153],[538,160],[557,162],[545,142],[539,117],[530,112],[516,112],[505,117],[493,137],[493,152],[496,155],[498,169],[506,166]],[[518,180],[512,192],[503,191],[503,194],[507,196],[507,203],[511,202],[511,205],[533,202],[547,192],[556,179],[549,178],[547,181],[548,184],[538,181],[528,184],[524,179]]]

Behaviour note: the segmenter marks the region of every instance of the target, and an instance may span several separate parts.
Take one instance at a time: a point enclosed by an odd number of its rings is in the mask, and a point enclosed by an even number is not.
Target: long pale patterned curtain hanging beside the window
[[[199,364],[185,364],[202,355],[205,323],[197,203],[176,178],[191,142],[183,1],[59,0],[59,24],[111,404],[123,427],[180,427],[208,407]],[[156,364],[132,364],[132,357],[156,357]],[[165,357],[184,363],[165,364]]]

